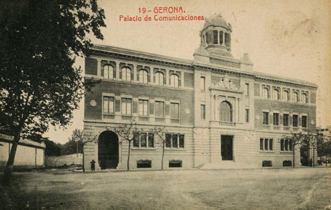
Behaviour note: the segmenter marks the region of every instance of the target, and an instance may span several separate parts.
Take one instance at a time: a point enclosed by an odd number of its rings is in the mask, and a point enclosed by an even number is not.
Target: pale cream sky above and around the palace
[[[331,125],[331,1],[98,1],[105,10],[104,39],[92,43],[193,60],[205,21],[155,21],[154,15],[210,17],[221,12],[232,25],[232,55],[248,53],[255,72],[285,76],[319,85],[317,125]],[[185,13],[155,13],[157,7],[181,7]],[[143,8],[151,12],[139,13]],[[142,21],[123,21],[141,17]],[[152,21],[143,21],[144,17]],[[84,67],[83,59],[76,65]],[[83,101],[66,129],[50,127],[44,137],[66,143],[72,130],[83,129]]]

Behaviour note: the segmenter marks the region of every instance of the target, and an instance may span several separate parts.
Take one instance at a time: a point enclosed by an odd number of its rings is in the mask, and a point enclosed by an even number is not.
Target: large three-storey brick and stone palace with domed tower
[[[164,167],[243,168],[292,164],[291,132],[316,129],[317,85],[253,71],[248,54],[231,54],[232,27],[205,20],[194,60],[105,45],[86,57],[86,168],[126,169],[128,142],[114,128],[134,117],[130,167],[160,169],[162,147],[150,132],[166,128]],[[300,165],[299,148],[296,165]]]

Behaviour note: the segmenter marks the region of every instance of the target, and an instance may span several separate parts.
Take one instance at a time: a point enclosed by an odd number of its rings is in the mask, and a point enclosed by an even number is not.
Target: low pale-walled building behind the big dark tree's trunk
[[[0,171],[7,165],[13,136],[0,134]],[[14,160],[14,170],[45,167],[45,143],[37,143],[26,138],[21,138],[17,145]]]

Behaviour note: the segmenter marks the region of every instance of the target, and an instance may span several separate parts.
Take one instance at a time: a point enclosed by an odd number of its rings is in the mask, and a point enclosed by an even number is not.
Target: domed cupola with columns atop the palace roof
[[[232,27],[223,19],[222,14],[214,14],[205,19],[200,32],[201,45],[209,54],[230,56]]]

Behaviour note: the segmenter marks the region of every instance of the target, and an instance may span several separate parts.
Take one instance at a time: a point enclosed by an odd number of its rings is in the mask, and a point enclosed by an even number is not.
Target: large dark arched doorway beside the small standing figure
[[[98,160],[101,169],[116,169],[119,164],[119,138],[114,132],[102,132],[98,139]]]

